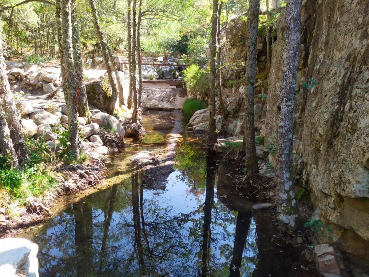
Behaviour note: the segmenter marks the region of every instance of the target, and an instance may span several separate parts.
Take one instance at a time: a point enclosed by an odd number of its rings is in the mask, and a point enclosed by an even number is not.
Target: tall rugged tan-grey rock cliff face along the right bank
[[[341,249],[369,260],[369,1],[304,1],[301,20],[295,181],[309,189],[317,215],[334,228]],[[282,12],[262,86],[268,94],[261,131],[266,143],[276,142],[283,31]],[[230,48],[225,59],[239,58],[242,51]],[[305,89],[309,79],[317,85]]]

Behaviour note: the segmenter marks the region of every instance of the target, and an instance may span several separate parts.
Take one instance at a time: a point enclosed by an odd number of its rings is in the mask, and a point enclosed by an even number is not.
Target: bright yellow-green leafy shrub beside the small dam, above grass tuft
[[[184,71],[187,94],[195,99],[205,100],[210,90],[209,72],[200,69],[196,64],[190,65]]]

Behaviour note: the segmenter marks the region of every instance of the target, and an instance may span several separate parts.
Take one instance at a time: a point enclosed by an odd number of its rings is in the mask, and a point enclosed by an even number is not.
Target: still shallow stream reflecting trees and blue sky
[[[305,247],[280,237],[272,212],[232,194],[232,165],[207,155],[179,112],[149,111],[143,123],[143,143],[126,140],[111,157],[110,187],[31,237],[40,276],[318,276]],[[133,154],[165,153],[171,134],[181,136],[169,170],[133,170]]]

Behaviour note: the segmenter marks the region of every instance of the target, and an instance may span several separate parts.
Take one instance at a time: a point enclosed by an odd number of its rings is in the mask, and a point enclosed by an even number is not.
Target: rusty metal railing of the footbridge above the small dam
[[[115,53],[115,61],[128,64],[128,52],[117,51]],[[192,64],[200,65],[204,63],[200,55],[182,54],[176,52],[141,52],[141,65],[152,66],[189,66]]]

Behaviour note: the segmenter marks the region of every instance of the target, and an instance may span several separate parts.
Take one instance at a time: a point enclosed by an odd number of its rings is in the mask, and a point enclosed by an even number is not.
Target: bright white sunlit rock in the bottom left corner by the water
[[[0,239],[1,276],[38,277],[38,245],[27,239]]]

